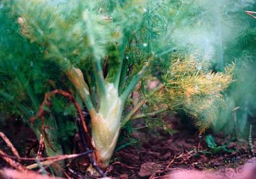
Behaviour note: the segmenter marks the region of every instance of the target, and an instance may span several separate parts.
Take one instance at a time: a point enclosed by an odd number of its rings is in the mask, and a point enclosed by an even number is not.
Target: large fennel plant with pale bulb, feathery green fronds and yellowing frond
[[[172,47],[172,33],[176,24],[184,25],[181,19],[190,4],[16,0],[0,5],[0,106],[23,116],[38,138],[40,121],[31,124],[29,119],[53,89],[69,91],[89,112],[94,154],[102,168],[109,164],[119,132],[130,120],[183,109],[201,132],[215,120],[232,68],[211,72],[208,62]],[[201,13],[189,11],[189,16],[197,19]],[[161,84],[151,90],[147,80],[154,76]],[[128,110],[137,84],[139,102]],[[145,114],[136,115],[141,108]],[[57,96],[53,107],[44,110],[54,148],[46,143],[47,154],[69,153],[67,141],[77,130],[71,125],[74,107]]]

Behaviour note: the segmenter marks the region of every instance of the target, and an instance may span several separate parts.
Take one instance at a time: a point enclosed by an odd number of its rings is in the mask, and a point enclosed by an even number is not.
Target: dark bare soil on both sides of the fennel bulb
[[[141,124],[138,124],[140,126]],[[256,127],[256,126],[255,126]],[[114,153],[111,165],[106,174],[112,178],[162,178],[169,173],[184,170],[218,171],[225,176],[233,176],[242,171],[242,166],[253,158],[248,140],[230,140],[230,136],[206,132],[202,137],[196,130],[176,123],[174,128],[179,132],[173,136],[162,130],[158,134],[147,128],[136,130],[131,137],[139,141],[139,145],[126,146]],[[33,132],[20,120],[11,119],[8,124],[1,125],[4,132],[21,156],[33,157],[38,142]],[[212,135],[218,146],[228,143],[229,151],[212,153],[205,143],[206,135]],[[255,137],[253,146],[256,148]],[[0,140],[0,149],[11,155],[9,148]],[[0,160],[0,168],[7,167]],[[230,174],[231,173],[231,174]],[[167,178],[167,177],[166,177]]]

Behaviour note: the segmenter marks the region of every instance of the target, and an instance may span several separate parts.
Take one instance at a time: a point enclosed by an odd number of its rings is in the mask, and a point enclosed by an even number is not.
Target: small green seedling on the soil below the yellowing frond
[[[214,137],[212,137],[211,135],[207,135],[205,137],[205,142],[207,144],[207,147],[211,149],[211,152],[213,154],[217,154],[220,152],[233,152],[233,150],[227,149],[227,144],[218,146],[215,142]]]

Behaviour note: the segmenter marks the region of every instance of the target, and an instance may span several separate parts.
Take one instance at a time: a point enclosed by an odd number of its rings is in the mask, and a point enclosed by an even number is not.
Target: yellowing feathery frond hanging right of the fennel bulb
[[[167,73],[161,76],[165,88],[159,91],[158,101],[151,102],[185,111],[204,132],[217,118],[219,107],[224,107],[222,93],[232,80],[234,65],[224,73],[214,73],[209,62],[197,62],[193,56],[176,53],[170,59]]]

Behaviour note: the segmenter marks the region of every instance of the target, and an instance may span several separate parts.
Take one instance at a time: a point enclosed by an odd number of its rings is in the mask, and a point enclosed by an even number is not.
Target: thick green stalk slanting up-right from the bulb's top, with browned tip
[[[150,64],[153,62],[153,60],[154,60],[154,56],[151,56],[148,59],[148,61],[146,62],[146,64],[144,64],[144,66],[142,67],[141,71],[139,71],[133,77],[132,81],[129,83],[129,85],[127,86],[127,88],[124,90],[124,92],[121,95],[121,100],[122,100],[123,103],[126,101],[128,96],[133,92],[133,89],[135,88],[135,86],[137,85],[137,83],[139,82],[141,77],[146,73],[148,68],[150,68]]]

